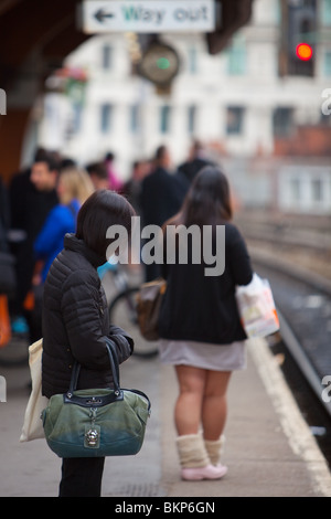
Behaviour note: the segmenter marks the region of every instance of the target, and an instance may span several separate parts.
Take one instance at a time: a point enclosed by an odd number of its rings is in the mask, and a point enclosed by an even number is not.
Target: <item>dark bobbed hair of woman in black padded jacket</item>
[[[106,261],[106,251],[111,243],[106,237],[108,227],[122,225],[130,235],[135,214],[132,205],[122,195],[107,189],[97,190],[78,212],[76,237]]]

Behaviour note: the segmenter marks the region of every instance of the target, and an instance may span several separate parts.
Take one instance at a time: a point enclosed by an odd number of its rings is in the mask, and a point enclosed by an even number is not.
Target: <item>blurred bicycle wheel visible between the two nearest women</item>
[[[132,337],[135,356],[151,358],[159,353],[158,342],[148,341],[140,333],[137,318],[138,292],[139,287],[129,287],[119,293],[109,305],[109,320]]]

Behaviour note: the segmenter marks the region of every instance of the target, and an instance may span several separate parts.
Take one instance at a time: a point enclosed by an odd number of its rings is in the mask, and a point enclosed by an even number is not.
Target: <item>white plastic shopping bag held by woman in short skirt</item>
[[[279,319],[267,279],[256,273],[249,285],[236,287],[236,300],[247,337],[267,337],[279,330]]]

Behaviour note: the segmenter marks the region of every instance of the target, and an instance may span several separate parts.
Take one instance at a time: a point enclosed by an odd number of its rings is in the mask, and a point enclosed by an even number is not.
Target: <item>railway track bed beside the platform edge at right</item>
[[[279,313],[270,348],[331,469],[331,284],[254,251],[252,260],[269,279]]]

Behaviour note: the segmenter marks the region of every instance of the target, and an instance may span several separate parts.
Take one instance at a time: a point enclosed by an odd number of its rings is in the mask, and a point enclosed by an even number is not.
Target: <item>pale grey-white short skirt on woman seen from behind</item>
[[[243,370],[247,366],[246,341],[213,345],[160,339],[159,352],[163,364],[193,366],[213,371]]]

